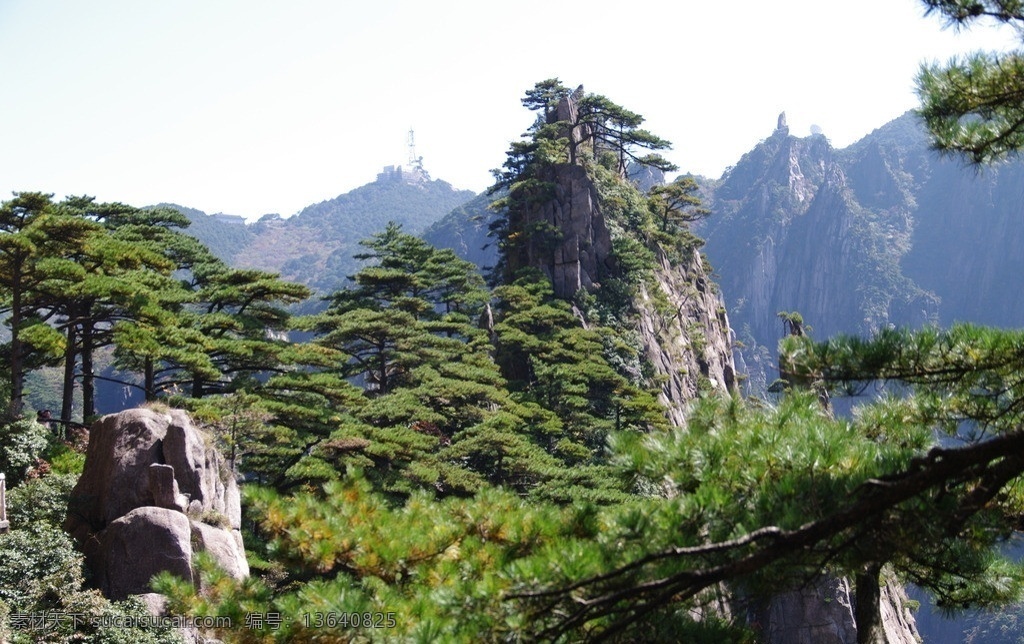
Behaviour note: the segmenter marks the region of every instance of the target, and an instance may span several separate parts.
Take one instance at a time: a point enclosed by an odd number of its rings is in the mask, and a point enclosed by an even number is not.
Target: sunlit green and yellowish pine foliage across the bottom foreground
[[[889,403],[890,423],[905,415],[903,404]],[[250,489],[247,500],[262,517],[272,556],[290,575],[314,573],[324,581],[279,590],[233,583],[224,587],[221,602],[181,586],[163,590],[181,602],[180,609],[199,614],[232,614],[250,602],[295,614],[387,607],[398,625],[388,636],[398,638],[429,631],[442,639],[514,634],[546,640],[586,624],[592,635],[607,629],[631,640],[671,635],[751,641],[735,624],[693,620],[693,611],[714,601],[705,591],[718,577],[705,577],[699,592],[686,591],[678,601],[636,610],[631,602],[642,592],[628,589],[644,578],[674,581],[732,565],[746,554],[742,549],[703,545],[742,540],[755,526],[784,532],[825,518],[865,481],[905,466],[931,439],[927,427],[895,425],[899,431],[880,441],[862,428],[878,421],[830,420],[814,396],[793,396],[778,410],[710,398],[697,405],[688,431],[616,434],[618,464],[634,473],[638,488],[658,489],[658,496],[603,510],[579,502],[562,509],[527,504],[486,486],[472,498],[442,502],[415,492],[394,506],[357,472],[327,485],[323,495],[282,498]],[[848,539],[837,534],[835,543]],[[776,565],[730,578],[773,590],[780,579],[820,570],[824,560],[839,570],[859,563],[856,553],[830,558],[829,552],[822,547],[788,553]],[[631,562],[643,563],[627,566]],[[601,576],[618,569],[628,572]],[[577,584],[571,592],[557,590]],[[600,604],[615,593],[620,599]],[[580,608],[580,596],[623,614],[612,610],[566,625],[588,612]],[[269,635],[287,641],[300,633]]]

